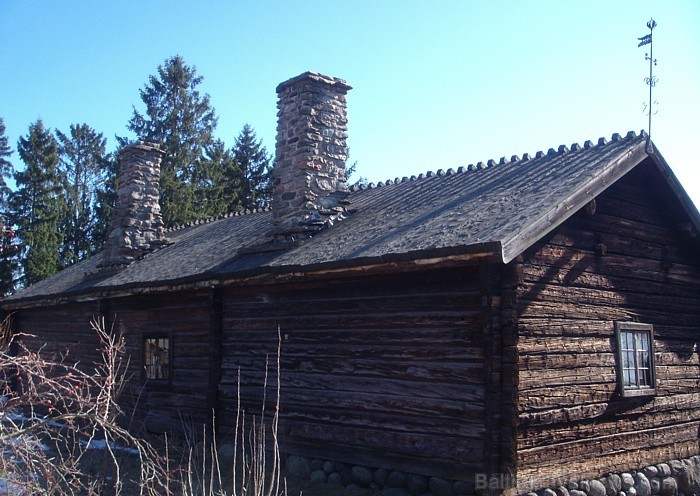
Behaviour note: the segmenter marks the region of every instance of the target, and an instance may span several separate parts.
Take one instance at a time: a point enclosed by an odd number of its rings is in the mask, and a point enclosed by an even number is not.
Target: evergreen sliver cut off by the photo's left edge
[[[12,176],[12,156],[7,136],[5,122],[0,117],[0,295],[6,295],[14,290],[14,272],[16,261],[13,249],[14,229],[9,223],[8,207],[10,188],[7,179]]]

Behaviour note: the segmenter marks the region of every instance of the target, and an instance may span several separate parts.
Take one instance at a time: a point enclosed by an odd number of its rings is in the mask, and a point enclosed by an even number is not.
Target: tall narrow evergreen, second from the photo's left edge
[[[25,169],[14,174],[17,190],[10,196],[10,207],[22,242],[23,279],[29,285],[59,269],[59,221],[66,203],[57,170],[58,143],[41,120],[29,126],[17,151]]]

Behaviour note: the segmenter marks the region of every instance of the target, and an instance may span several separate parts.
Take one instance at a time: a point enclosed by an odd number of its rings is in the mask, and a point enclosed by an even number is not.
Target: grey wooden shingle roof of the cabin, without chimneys
[[[100,276],[98,253],[2,306],[446,255],[484,254],[507,263],[648,157],[700,230],[697,209],[663,158],[647,153],[647,141],[645,134],[616,134],[610,141],[354,188],[349,218],[284,250],[269,245],[270,211],[192,225],[168,232],[170,245],[118,273]]]

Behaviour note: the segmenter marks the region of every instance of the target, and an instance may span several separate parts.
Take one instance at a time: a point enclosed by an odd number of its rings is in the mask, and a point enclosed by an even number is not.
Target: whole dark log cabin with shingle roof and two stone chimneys
[[[222,434],[279,346],[286,454],[520,493],[700,454],[700,215],[649,137],[348,187],[350,89],[278,86],[269,209],[165,229],[128,147],[105,250],[14,331],[87,363],[105,316],[146,425]]]

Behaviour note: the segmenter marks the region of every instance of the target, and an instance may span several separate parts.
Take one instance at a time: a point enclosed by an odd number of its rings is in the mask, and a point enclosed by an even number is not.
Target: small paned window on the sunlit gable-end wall
[[[628,397],[655,394],[653,326],[636,322],[616,322],[615,334],[620,395]]]

